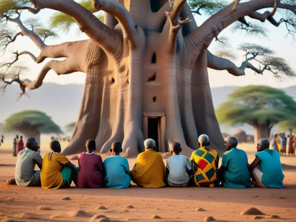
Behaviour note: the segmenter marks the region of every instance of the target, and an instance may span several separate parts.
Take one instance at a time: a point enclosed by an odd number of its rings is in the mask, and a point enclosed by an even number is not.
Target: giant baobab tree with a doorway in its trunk
[[[197,27],[191,12],[194,8],[185,0],[91,0],[81,4],[73,0],[1,0],[2,20],[16,23],[21,30],[8,37],[9,42],[16,36],[28,36],[40,54],[23,54],[37,63],[45,58],[66,58],[47,62],[35,81],[12,81],[21,88],[37,89],[50,69],[58,75],[86,73],[80,113],[64,154],[81,152],[85,141],[92,138],[98,148],[102,147],[101,152],[107,152],[113,141],[122,141],[124,152],[129,149],[129,155],[137,155],[143,151],[142,111],[165,111],[165,140],[179,141],[184,153],[198,148],[197,138],[202,133],[222,151],[223,137],[215,117],[207,67],[232,67],[230,73],[236,76],[244,73],[230,60],[211,54],[207,47],[234,22],[250,26],[246,16],[278,26],[273,19],[276,8],[291,12],[285,17],[291,18],[289,27],[294,30],[295,1],[235,0],[219,7],[199,7],[197,12],[213,9],[213,15]],[[46,45],[20,19],[22,10],[38,14],[45,8],[60,12],[52,19],[53,24],[75,22],[89,39]],[[257,12],[265,8],[271,9]],[[105,12],[104,23],[93,14],[100,10]],[[64,19],[66,23],[61,22]],[[280,23],[289,24],[287,19]]]

